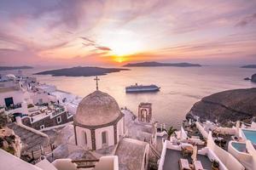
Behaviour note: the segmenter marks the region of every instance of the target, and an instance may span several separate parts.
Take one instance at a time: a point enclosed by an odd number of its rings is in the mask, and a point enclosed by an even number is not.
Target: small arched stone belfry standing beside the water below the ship
[[[152,120],[152,104],[141,103],[138,105],[138,121],[151,122]]]

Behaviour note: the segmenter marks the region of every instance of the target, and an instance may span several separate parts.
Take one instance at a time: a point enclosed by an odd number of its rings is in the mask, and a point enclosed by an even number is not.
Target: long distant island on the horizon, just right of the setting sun
[[[132,66],[176,66],[176,67],[194,67],[194,66],[201,66],[199,64],[191,64],[191,63],[160,63],[160,62],[142,62],[142,63],[128,63],[123,65],[124,67],[132,67]]]

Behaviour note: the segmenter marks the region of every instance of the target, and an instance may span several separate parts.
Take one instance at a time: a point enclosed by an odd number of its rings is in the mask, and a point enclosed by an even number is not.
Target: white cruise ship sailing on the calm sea
[[[157,87],[154,84],[151,85],[131,85],[125,88],[126,93],[138,93],[138,92],[155,92],[159,91],[160,87]]]

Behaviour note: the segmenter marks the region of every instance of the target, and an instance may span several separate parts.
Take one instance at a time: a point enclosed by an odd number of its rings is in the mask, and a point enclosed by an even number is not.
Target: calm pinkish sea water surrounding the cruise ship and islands
[[[42,69],[23,71],[32,75]],[[180,127],[186,113],[202,97],[235,88],[256,88],[256,83],[244,81],[256,69],[236,66],[204,67],[137,67],[101,76],[99,88],[117,100],[120,107],[129,108],[137,114],[140,102],[153,104],[154,120],[167,126]],[[81,97],[96,90],[94,77],[36,76],[39,82],[54,84],[57,88]],[[131,84],[156,84],[160,92],[149,94],[125,94],[125,86]]]

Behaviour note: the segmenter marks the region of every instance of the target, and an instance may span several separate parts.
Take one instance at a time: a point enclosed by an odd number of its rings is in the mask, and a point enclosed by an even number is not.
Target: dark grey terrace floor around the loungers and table
[[[165,156],[163,170],[178,170],[179,169],[178,161],[181,158],[187,159],[190,164],[192,163],[191,156],[184,157],[182,155],[181,150],[166,149],[166,156]],[[212,169],[212,162],[209,160],[207,156],[197,154],[197,161],[201,161],[201,165],[204,169]]]

